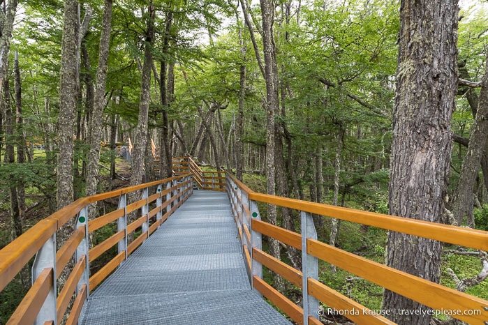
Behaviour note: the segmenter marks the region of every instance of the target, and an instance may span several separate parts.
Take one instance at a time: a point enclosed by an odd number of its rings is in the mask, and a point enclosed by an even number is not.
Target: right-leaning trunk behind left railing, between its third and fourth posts
[[[151,100],[151,69],[152,69],[152,45],[154,42],[154,6],[149,2],[149,17],[147,17],[147,31],[145,38],[144,63],[142,64],[140,103],[138,126],[134,139],[132,151],[132,176],[131,186],[142,183],[142,176],[145,171],[145,151],[147,141],[147,119],[149,114],[149,101]],[[135,200],[135,194],[130,198]]]

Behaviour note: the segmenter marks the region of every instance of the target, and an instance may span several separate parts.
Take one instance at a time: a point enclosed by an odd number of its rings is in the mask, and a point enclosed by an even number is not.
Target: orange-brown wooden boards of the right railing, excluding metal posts
[[[329,218],[348,220],[350,222],[402,232],[427,239],[434,239],[445,243],[463,245],[478,250],[488,250],[488,232],[481,230],[442,225],[435,222],[388,216],[380,213],[346,209],[327,204],[318,204],[298,199],[260,194],[246,188],[244,184],[237,181],[232,175],[227,174],[227,177],[227,190],[231,198],[230,201],[236,218],[239,234],[241,228],[246,229],[246,225],[243,220],[238,218],[238,216],[241,214],[241,211],[246,210],[246,213],[249,213],[247,212],[249,209],[244,207],[246,202],[242,200],[241,197],[241,193],[244,193],[249,200],[254,202],[274,204],[276,206],[302,211],[302,213],[315,213]],[[256,204],[254,205],[254,211],[256,211]],[[299,250],[302,250],[302,245],[304,245],[303,249],[305,250],[306,248],[306,252],[304,253],[306,253],[307,258],[309,258],[308,256],[311,256],[323,259],[326,262],[339,266],[341,269],[345,269],[346,271],[370,280],[381,287],[390,289],[393,292],[397,292],[436,310],[476,309],[478,310],[476,315],[454,315],[454,317],[470,324],[485,324],[488,322],[488,301],[485,301],[482,298],[471,296],[444,287],[443,285],[438,285],[434,282],[418,278],[414,275],[392,269],[383,264],[372,262],[369,259],[358,257],[350,252],[321,243],[316,239],[302,237],[301,234],[296,234],[295,232],[290,232],[276,225],[270,225],[267,222],[256,220],[254,217],[256,217],[255,214],[253,214],[253,219],[251,220],[252,232],[270,236]],[[304,225],[302,225],[302,227],[304,227]],[[302,231],[303,230],[304,229],[302,228]],[[253,243],[253,245],[254,244],[255,243]],[[266,266],[283,278],[293,282],[297,287],[300,287],[298,283],[299,278],[297,278],[297,276],[306,277],[304,283],[307,284],[308,291],[304,292],[304,295],[309,294],[333,308],[350,308],[359,311],[360,315],[352,315],[351,317],[348,317],[353,321],[364,322],[367,324],[394,324],[385,317],[377,315],[376,312],[364,312],[364,310],[367,310],[364,306],[352,301],[350,298],[344,297],[339,294],[339,292],[335,292],[326,287],[318,280],[308,278],[308,275],[306,274],[302,275],[299,270],[293,269],[293,267],[274,259],[274,257],[267,255],[262,250],[253,247],[251,258],[251,263],[258,263],[258,265]],[[303,263],[305,264],[305,261],[303,261]],[[253,267],[254,266],[251,266],[250,269]],[[288,316],[294,319],[295,322],[303,322],[303,320],[300,320],[297,310],[290,305],[292,302],[289,301],[288,298],[276,294],[276,291],[272,287],[265,285],[263,280],[254,275],[254,273],[253,283],[254,287],[256,287],[261,294],[269,298],[270,301],[286,308],[284,311],[287,312]],[[346,315],[346,317],[347,316],[348,315]],[[308,317],[307,315],[304,315],[304,317],[308,320],[309,324],[320,324],[318,319],[312,317],[310,314]]]

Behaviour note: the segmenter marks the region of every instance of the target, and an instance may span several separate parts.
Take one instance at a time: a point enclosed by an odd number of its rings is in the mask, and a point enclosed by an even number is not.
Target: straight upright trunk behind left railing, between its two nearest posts
[[[73,134],[78,89],[78,1],[64,2],[64,27],[59,70],[57,209],[73,201]]]

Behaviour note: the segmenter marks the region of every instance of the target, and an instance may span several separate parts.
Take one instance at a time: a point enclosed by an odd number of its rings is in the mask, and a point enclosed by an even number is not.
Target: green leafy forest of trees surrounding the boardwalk
[[[171,176],[181,156],[259,192],[488,231],[488,3],[460,5],[2,0],[0,248],[74,199]],[[265,217],[295,230],[290,211]],[[488,298],[486,252],[419,241],[429,256],[414,257],[393,232],[315,222],[331,245],[429,260],[422,276]],[[370,308],[394,300],[333,266],[321,276]],[[0,324],[23,285],[0,293]]]

